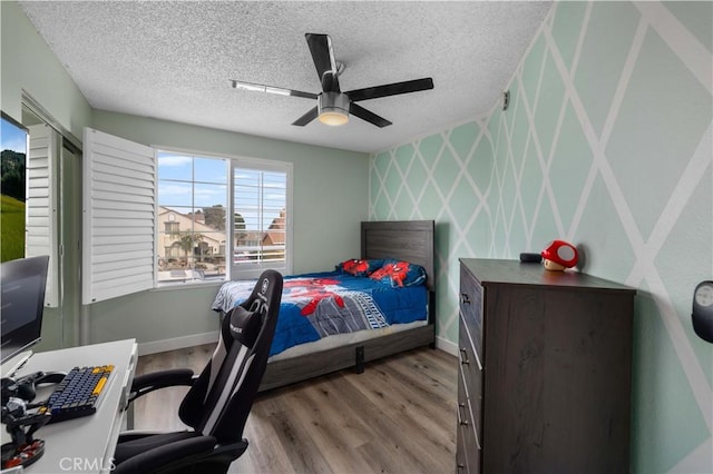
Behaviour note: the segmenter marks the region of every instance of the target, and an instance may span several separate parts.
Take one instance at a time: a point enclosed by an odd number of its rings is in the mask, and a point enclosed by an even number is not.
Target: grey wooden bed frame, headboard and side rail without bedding
[[[428,325],[305,354],[267,364],[260,391],[281,387],[320,375],[355,367],[364,363],[436,343],[436,270],[434,224],[432,220],[393,220],[361,223],[361,258],[392,257],[421,265],[426,269],[429,289]]]

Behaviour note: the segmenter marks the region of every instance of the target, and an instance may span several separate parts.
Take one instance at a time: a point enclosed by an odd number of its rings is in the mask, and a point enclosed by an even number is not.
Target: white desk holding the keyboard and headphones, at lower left
[[[49,350],[30,357],[16,377],[37,371],[68,372],[75,366],[108,364],[114,364],[114,374],[97,413],[45,425],[35,434],[36,438],[45,440],[45,454],[26,467],[25,473],[108,473],[114,467],[111,458],[121,431],[137,357],[134,339]],[[36,401],[45,399],[51,389],[51,385],[40,387]],[[2,443],[9,437],[3,425]]]

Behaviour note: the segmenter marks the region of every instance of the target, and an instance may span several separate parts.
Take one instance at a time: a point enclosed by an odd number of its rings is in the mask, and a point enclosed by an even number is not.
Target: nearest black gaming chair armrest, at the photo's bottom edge
[[[113,474],[149,474],[177,471],[192,462],[209,455],[216,445],[213,436],[180,440],[137,454],[119,463]]]

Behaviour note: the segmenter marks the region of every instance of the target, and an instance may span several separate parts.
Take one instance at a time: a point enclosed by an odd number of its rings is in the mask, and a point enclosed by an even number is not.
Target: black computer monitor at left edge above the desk
[[[0,264],[2,364],[40,340],[48,264],[46,255]]]

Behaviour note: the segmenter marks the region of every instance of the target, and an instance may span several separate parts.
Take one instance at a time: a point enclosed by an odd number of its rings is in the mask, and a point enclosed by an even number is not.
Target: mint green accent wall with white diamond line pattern
[[[713,345],[691,326],[713,279],[713,2],[556,3],[504,90],[507,110],[373,155],[370,218],[436,220],[453,352],[459,258],[561,238],[636,288],[631,470],[713,472]]]

